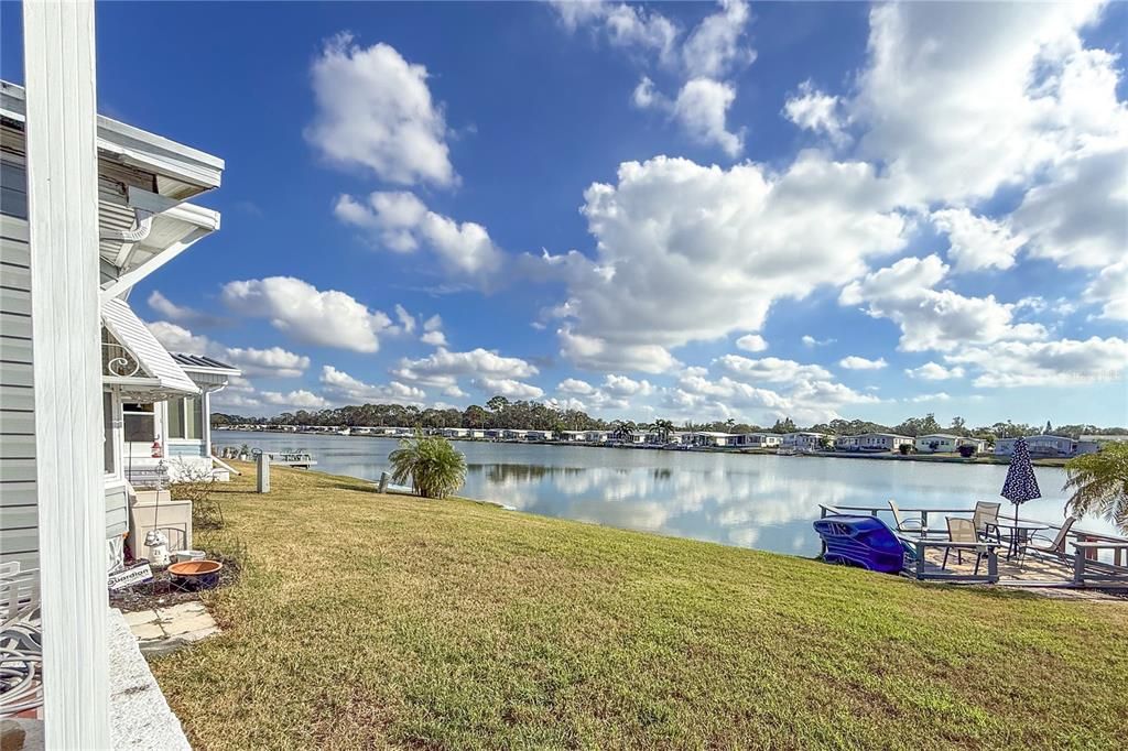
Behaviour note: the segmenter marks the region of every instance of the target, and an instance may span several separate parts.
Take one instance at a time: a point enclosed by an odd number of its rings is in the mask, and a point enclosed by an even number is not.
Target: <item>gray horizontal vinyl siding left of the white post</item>
[[[5,213],[12,207],[5,170]],[[38,565],[32,275],[27,222],[0,215],[0,560]]]

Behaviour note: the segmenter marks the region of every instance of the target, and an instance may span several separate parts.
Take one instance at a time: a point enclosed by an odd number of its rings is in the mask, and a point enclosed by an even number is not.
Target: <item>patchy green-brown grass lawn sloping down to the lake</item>
[[[239,465],[253,471],[249,465]],[[223,486],[224,629],[153,670],[199,749],[1117,748],[1128,610],[384,496]]]

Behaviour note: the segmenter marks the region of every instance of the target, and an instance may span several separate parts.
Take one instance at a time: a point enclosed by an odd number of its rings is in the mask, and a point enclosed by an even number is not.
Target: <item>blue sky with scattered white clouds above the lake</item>
[[[131,303],[241,414],[1128,423],[1126,19],[104,3],[103,113],[227,160]]]

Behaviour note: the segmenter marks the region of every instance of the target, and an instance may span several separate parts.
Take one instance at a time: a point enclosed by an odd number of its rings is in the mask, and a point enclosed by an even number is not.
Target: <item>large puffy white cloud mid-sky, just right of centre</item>
[[[563,355],[594,370],[660,372],[670,347],[759,330],[773,302],[864,274],[909,229],[872,167],[814,152],[778,174],[624,162],[584,197],[596,258],[540,262],[569,288],[554,311]]]

